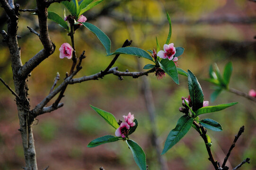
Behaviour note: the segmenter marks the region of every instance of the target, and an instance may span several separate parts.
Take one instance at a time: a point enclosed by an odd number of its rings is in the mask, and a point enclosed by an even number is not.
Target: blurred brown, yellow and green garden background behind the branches
[[[15,0],[21,8],[35,8],[35,1]],[[63,16],[64,6],[56,3],[49,10]],[[256,3],[249,0],[105,0],[84,15],[103,30],[111,39],[111,51],[122,46],[126,39],[132,39],[132,46],[144,50],[156,48],[155,37],[161,47],[168,34],[166,12],[172,19],[171,42],[182,46],[185,52],[178,61],[180,68],[190,69],[198,77],[204,92],[204,100],[210,101],[212,85],[208,69],[212,63],[223,67],[233,63],[230,87],[247,93],[256,89]],[[33,57],[42,49],[38,37],[29,32],[26,26],[38,31],[36,16],[21,13],[18,23],[19,46],[22,61]],[[6,30],[6,15],[0,8],[0,29]],[[71,60],[59,58],[59,47],[63,42],[71,43],[67,33],[57,24],[49,21],[50,36],[56,45],[53,55],[35,68],[28,78],[31,108],[49,93],[57,72],[61,75],[70,70]],[[0,38],[2,40],[2,37]],[[83,69],[76,77],[91,75],[105,69],[113,57],[106,52],[96,36],[87,29],[79,28],[75,33],[76,51],[86,51]],[[12,72],[9,49],[0,42],[0,77],[12,88]],[[119,70],[138,71],[149,60],[121,55],[115,66]],[[160,149],[171,129],[182,115],[181,97],[188,95],[187,79],[180,77],[176,85],[169,76],[157,80],[154,74],[147,76],[153,102],[156,108],[155,131]],[[115,129],[109,126],[89,104],[113,113],[122,119],[129,112],[134,114],[139,126],[131,138],[141,145],[147,156],[150,170],[159,170],[157,153],[151,144],[151,125],[143,93],[142,78],[132,79],[107,75],[103,79],[69,85],[64,106],[59,110],[37,117],[33,125],[37,163],[39,169],[48,165],[49,170],[138,170],[127,145],[118,141],[87,148],[87,144],[104,135],[114,135]],[[220,112],[202,115],[220,122],[223,131],[212,132],[212,150],[218,161],[225,154],[237,134],[239,127],[245,125],[245,132],[232,151],[228,165],[235,167],[247,157],[251,163],[243,170],[256,169],[256,104],[246,98],[229,92],[222,92],[210,105],[239,102]],[[4,85],[0,84],[0,170],[19,170],[25,166],[23,148],[14,97]],[[202,138],[191,128],[189,133],[163,158],[168,169],[175,170],[213,170]]]

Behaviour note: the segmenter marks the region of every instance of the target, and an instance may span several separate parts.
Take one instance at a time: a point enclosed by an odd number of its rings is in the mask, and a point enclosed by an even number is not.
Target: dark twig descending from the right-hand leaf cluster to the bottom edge
[[[212,150],[211,150],[211,146],[208,145],[208,140],[207,140],[207,136],[206,136],[206,129],[202,126],[202,125],[199,125],[198,123],[196,123],[195,121],[193,122],[193,124],[195,125],[195,127],[197,127],[198,129],[201,129],[202,130],[202,134],[200,134],[200,136],[203,138],[203,141],[205,143],[205,146],[206,146],[206,150],[208,152],[208,155],[209,155],[209,161],[212,162],[212,165],[214,166],[215,170],[218,170],[219,169],[219,165],[218,165],[218,161],[216,161],[213,157],[213,154],[212,154]]]

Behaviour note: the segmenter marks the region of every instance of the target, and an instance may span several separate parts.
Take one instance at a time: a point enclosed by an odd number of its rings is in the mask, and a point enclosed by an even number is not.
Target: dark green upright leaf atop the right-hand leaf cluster
[[[196,76],[194,76],[194,74],[190,70],[187,70],[187,73],[188,90],[193,104],[192,109],[193,111],[196,111],[199,108],[203,107],[203,90]]]

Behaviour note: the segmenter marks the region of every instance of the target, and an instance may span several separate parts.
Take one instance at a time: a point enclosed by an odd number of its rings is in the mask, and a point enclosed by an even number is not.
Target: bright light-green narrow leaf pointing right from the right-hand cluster
[[[198,116],[198,115],[201,115],[201,114],[204,114],[204,113],[212,113],[212,112],[215,112],[215,111],[220,111],[220,110],[226,109],[230,106],[233,106],[237,103],[238,102],[231,102],[231,103],[227,103],[227,104],[219,104],[217,106],[205,106],[205,107],[202,107],[202,108],[198,109],[195,112],[195,114],[196,114],[196,116]]]

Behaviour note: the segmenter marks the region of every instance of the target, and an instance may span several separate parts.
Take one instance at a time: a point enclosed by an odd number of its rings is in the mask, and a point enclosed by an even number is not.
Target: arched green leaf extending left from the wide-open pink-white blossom
[[[115,52],[108,54],[107,56],[115,55],[115,54],[129,54],[129,55],[135,55],[138,57],[143,57],[146,59],[150,59],[153,61],[152,57],[147,53],[147,51],[136,48],[136,47],[122,47],[117,49]]]

